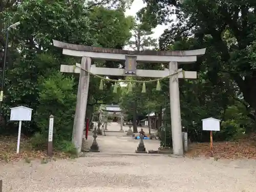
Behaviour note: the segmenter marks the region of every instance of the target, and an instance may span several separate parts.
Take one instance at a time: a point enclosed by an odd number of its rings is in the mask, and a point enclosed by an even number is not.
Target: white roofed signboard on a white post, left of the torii
[[[20,134],[22,133],[22,121],[31,121],[32,109],[26,108],[26,106],[16,106],[11,108],[10,121],[19,121],[18,123],[18,139],[17,139],[17,151],[19,154]]]

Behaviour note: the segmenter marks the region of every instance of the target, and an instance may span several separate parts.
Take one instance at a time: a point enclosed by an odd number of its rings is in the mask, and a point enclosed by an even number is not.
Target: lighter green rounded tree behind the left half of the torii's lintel
[[[131,37],[133,17],[125,17],[122,9],[109,10],[104,7],[94,7],[89,14],[91,22],[90,34],[97,39],[97,45],[105,48],[122,49]],[[97,67],[118,68],[120,62],[95,62]],[[110,77],[120,78],[120,77]],[[117,93],[113,93],[113,83],[105,82],[104,90],[99,90],[100,79],[91,78],[88,95],[87,117],[92,121],[93,114],[100,104],[118,103]]]

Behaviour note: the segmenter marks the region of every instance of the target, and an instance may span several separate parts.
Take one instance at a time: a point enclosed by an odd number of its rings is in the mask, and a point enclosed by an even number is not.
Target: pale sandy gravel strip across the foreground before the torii
[[[256,191],[256,162],[95,154],[47,164],[0,164],[8,191]]]

